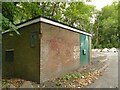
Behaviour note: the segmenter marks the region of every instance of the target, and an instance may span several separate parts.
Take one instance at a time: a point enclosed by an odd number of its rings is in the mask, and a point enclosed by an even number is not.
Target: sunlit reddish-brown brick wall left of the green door
[[[41,23],[41,82],[61,76],[80,66],[79,38],[79,33]]]

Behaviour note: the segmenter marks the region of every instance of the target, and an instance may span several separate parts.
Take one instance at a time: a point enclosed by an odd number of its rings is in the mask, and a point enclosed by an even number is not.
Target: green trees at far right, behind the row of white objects
[[[93,27],[94,48],[118,47],[118,4],[105,6],[98,12]]]

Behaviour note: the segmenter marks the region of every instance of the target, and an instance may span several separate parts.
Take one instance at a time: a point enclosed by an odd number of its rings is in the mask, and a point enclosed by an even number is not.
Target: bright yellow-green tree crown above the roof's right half
[[[90,18],[94,12],[94,6],[86,5],[84,2],[72,2],[64,12],[63,22],[86,31],[90,24]]]

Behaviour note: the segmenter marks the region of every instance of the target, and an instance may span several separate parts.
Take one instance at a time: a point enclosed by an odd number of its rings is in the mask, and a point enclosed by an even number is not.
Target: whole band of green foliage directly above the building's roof
[[[94,6],[84,2],[4,2],[2,7],[2,14],[8,19],[4,30],[8,28],[8,22],[17,24],[41,15],[89,31],[94,12]]]

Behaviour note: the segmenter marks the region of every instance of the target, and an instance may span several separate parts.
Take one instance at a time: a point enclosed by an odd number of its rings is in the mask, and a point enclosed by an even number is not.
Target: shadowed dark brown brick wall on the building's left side
[[[3,34],[2,42],[2,70],[3,77],[22,78],[25,80],[39,82],[39,39],[37,38],[36,47],[31,47],[31,32],[39,35],[39,23],[32,24],[18,31],[20,35],[13,32]],[[5,60],[5,51],[14,49],[14,61]]]

